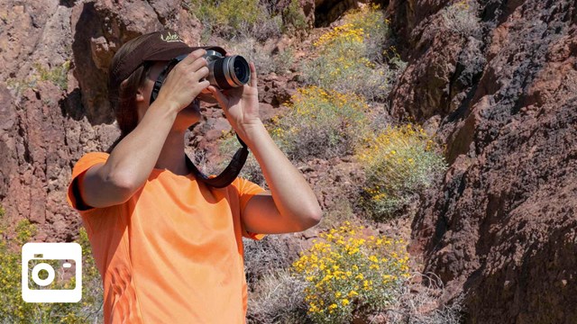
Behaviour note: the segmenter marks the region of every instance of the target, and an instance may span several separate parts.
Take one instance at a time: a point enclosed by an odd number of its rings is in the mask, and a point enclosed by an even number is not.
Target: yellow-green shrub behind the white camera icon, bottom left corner
[[[1,227],[4,230],[6,227]],[[79,244],[83,254],[82,300],[72,303],[31,303],[22,298],[22,260],[21,247],[36,232],[35,226],[28,220],[21,220],[15,226],[14,239],[6,239],[0,233],[0,322],[3,323],[78,323],[102,321],[103,291],[100,275],[96,270],[90,247],[87,245],[86,232],[82,230]],[[60,277],[58,274],[57,277]],[[52,289],[66,289],[70,282],[56,281]]]

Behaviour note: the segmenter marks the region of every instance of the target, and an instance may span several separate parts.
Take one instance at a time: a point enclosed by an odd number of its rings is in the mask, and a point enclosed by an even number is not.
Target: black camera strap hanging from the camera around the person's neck
[[[156,100],[156,98],[158,97],[160,87],[162,86],[162,84],[164,84],[164,81],[166,80],[166,76],[168,75],[170,69],[175,65],[177,65],[179,61],[181,61],[182,58],[184,57],[186,57],[186,55],[180,56],[178,58],[172,58],[169,61],[169,64],[167,64],[167,66],[162,69],[159,77],[156,79],[156,81],[154,82],[154,86],[152,87],[150,104],[152,104],[154,100]],[[190,160],[190,158],[185,155],[187,159],[187,166],[190,169],[192,169],[192,173],[197,177],[198,181],[215,188],[224,188],[225,186],[233,183],[234,179],[236,179],[236,177],[241,173],[244,163],[246,162],[246,158],[249,156],[249,148],[243,142],[243,139],[241,139],[238,136],[238,134],[236,135],[236,139],[238,139],[238,141],[241,143],[242,148],[236,150],[233,159],[228,164],[228,166],[224,168],[223,172],[221,172],[220,175],[216,175],[213,177],[206,176],[197,168],[197,166],[195,166],[195,164]]]

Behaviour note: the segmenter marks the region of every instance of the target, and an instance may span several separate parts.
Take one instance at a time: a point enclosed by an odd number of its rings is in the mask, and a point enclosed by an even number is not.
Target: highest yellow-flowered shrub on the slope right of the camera
[[[316,57],[302,68],[303,81],[383,100],[390,88],[389,67],[380,63],[380,46],[388,32],[384,18],[378,7],[368,6],[345,16],[344,22],[316,40]]]

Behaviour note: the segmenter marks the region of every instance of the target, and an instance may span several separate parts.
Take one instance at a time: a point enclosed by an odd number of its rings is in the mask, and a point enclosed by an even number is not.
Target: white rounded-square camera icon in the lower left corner
[[[57,276],[70,269],[75,270],[75,280],[70,281],[73,284],[64,289],[50,289]],[[41,272],[47,275],[41,278]],[[24,302],[79,302],[82,298],[82,247],[78,243],[24,244],[22,298]]]

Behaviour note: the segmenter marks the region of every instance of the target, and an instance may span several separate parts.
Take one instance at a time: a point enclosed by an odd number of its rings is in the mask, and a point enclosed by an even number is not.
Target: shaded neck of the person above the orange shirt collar
[[[174,130],[169,132],[154,167],[167,169],[175,175],[190,173],[184,152],[184,132]]]

